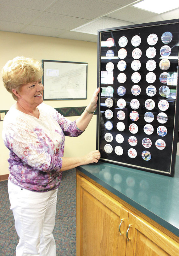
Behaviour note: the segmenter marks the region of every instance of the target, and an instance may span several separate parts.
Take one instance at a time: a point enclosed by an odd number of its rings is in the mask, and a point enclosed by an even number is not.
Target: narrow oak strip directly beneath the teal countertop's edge
[[[82,173],[81,171],[79,171],[76,168],[77,174],[81,175],[82,177],[86,178],[89,182],[91,182],[92,184],[94,184],[95,186],[97,186],[98,188],[100,188],[103,192],[107,193],[109,196],[111,196],[112,198],[114,198],[116,201],[118,201],[120,204],[124,205],[127,209],[129,209],[130,211],[132,211],[133,213],[137,214],[137,217],[141,217],[144,220],[148,221],[150,224],[152,224],[154,227],[158,228],[160,231],[164,232],[166,235],[170,236],[172,239],[174,239],[176,242],[179,243],[179,237],[176,236],[175,234],[173,234],[171,231],[169,231],[168,229],[165,229],[164,227],[162,227],[159,223],[155,222],[154,220],[152,220],[151,218],[149,218],[148,216],[146,216],[145,214],[143,214],[142,212],[138,211],[136,208],[134,208],[133,206],[129,205],[128,203],[126,203],[124,200],[120,199],[118,196],[116,196],[115,194],[111,193],[109,190],[107,190],[106,188],[104,188],[103,186],[99,185],[97,182],[95,182],[94,180],[92,180],[91,178],[89,178],[87,175],[85,175],[84,173]]]

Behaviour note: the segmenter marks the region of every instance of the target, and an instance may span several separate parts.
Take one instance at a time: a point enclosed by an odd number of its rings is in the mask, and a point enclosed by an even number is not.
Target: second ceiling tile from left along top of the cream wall
[[[59,33],[64,33],[64,30],[57,28],[28,25],[25,28],[23,28],[20,31],[20,33],[56,37]]]

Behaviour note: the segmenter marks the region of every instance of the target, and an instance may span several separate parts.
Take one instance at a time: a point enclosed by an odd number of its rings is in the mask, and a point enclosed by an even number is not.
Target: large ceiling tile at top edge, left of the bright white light
[[[101,0],[69,0],[57,1],[46,11],[61,15],[73,16],[92,20],[110,11],[120,8],[121,5]]]

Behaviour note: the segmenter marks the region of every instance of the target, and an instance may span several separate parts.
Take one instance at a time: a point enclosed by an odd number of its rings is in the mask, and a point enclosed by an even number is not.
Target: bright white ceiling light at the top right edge
[[[133,5],[150,12],[163,13],[179,8],[178,0],[144,0]]]

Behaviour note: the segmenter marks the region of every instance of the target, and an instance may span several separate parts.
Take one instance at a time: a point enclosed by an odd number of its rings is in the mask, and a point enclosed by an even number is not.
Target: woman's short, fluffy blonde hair
[[[42,63],[35,59],[18,56],[6,63],[3,67],[2,74],[6,90],[17,100],[18,97],[12,92],[12,89],[20,92],[23,84],[42,79]]]

